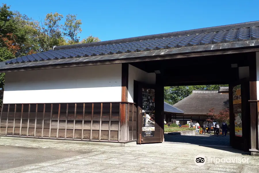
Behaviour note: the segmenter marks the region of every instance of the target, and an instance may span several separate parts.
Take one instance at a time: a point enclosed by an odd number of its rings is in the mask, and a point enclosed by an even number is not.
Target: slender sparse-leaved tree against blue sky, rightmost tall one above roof
[[[63,34],[70,38],[73,42],[78,43],[79,38],[77,34],[82,32],[81,26],[82,21],[77,20],[77,14],[68,14],[66,15],[66,21],[65,24],[62,25],[62,29],[65,31]]]

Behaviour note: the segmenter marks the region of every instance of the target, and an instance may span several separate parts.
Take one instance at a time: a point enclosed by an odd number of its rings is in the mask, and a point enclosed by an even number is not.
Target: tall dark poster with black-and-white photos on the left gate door
[[[155,90],[142,88],[142,137],[155,137]]]

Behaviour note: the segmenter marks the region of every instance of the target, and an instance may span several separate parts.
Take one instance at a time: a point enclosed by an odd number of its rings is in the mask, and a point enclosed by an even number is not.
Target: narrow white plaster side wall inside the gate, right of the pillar
[[[134,100],[134,80],[147,84],[156,83],[156,74],[147,73],[137,67],[129,65],[129,85],[128,85],[128,101],[133,102]]]

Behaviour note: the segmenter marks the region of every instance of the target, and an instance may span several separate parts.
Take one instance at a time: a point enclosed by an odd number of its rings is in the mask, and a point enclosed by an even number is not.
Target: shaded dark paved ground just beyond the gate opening
[[[167,135],[165,134],[165,142],[179,142],[196,145],[218,145],[218,146],[229,146],[229,135],[227,136],[216,136],[209,134],[196,134],[195,136],[182,136],[182,135]]]

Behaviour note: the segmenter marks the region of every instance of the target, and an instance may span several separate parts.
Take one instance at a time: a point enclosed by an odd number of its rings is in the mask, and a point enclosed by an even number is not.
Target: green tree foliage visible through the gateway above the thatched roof
[[[189,96],[193,90],[218,90],[220,86],[228,85],[165,86],[164,100],[169,104],[176,104]]]

